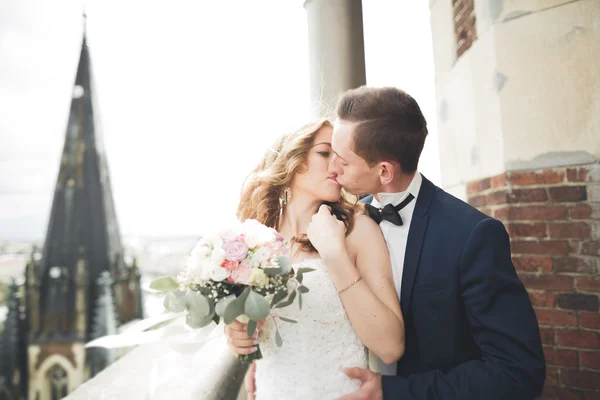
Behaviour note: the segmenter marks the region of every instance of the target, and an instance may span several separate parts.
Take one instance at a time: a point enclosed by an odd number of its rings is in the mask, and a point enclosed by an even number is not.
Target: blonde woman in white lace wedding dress
[[[344,368],[366,368],[367,349],[384,364],[404,353],[389,252],[379,227],[359,215],[328,171],[332,132],[320,120],[283,136],[242,192],[238,217],[277,229],[291,244],[294,268],[314,269],[304,275],[310,292],[302,308],[277,309],[252,338],[237,321],[225,328],[236,354],[251,354],[260,344],[263,358],[251,368],[256,392],[250,399],[335,399],[358,389],[360,382]],[[323,224],[331,214],[339,220],[333,231]],[[328,241],[330,235],[345,236],[345,246],[332,245],[344,241]],[[297,323],[279,324],[281,317]]]

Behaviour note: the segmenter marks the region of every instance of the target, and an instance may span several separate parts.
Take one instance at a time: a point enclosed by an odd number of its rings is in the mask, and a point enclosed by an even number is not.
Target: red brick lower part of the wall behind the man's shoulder
[[[467,196],[511,236],[541,328],[543,398],[600,399],[600,164],[507,172]]]

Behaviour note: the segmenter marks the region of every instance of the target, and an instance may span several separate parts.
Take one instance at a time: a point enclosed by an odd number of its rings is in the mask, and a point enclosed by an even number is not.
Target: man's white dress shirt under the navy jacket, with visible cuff
[[[394,225],[386,220],[381,221],[379,224],[390,252],[392,276],[394,277],[394,286],[396,287],[398,299],[400,299],[400,292],[402,290],[402,273],[404,272],[404,255],[406,254],[406,244],[408,242],[408,230],[415,211],[415,205],[417,204],[417,197],[419,195],[419,190],[421,189],[422,181],[423,178],[421,177],[421,174],[417,172],[406,191],[400,193],[378,193],[377,197],[379,198],[379,201],[377,201],[375,197],[373,197],[373,200],[371,201],[373,207],[383,208],[388,204],[394,206],[400,204],[406,199],[409,193],[415,197],[399,211],[400,218],[402,218],[402,226]],[[382,375],[396,375],[396,364],[385,364],[379,357],[371,352],[369,352],[369,367],[371,370],[379,372]]]

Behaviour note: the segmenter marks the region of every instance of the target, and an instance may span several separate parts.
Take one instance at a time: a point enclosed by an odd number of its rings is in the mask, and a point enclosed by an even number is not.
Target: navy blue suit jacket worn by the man
[[[541,393],[540,332],[504,226],[425,177],[400,296],[406,351],[397,376],[382,378],[384,399],[529,400]]]

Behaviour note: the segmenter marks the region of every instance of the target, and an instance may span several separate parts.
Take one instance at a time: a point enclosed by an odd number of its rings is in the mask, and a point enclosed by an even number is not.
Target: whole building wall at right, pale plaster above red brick
[[[430,0],[442,185],[511,236],[544,398],[600,395],[599,5]]]

